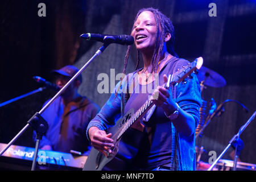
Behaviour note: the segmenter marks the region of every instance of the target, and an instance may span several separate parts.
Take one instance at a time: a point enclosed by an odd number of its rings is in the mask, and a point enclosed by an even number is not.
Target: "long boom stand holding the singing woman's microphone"
[[[49,105],[51,105],[52,102],[55,101],[56,98],[59,97],[61,95],[61,93],[64,92],[65,89],[67,89],[67,87],[77,78],[77,76],[79,76],[82,73],[82,71],[84,71],[84,69],[87,68],[88,65],[97,56],[99,56],[106,49],[106,47],[108,47],[108,46],[109,46],[109,44],[106,44],[106,43],[103,44],[98,49],[98,51],[96,51],[96,53],[94,53],[94,55],[90,58],[90,60],[76,73],[76,75],[74,75],[67,82],[67,84],[65,84],[63,86],[63,88],[61,88],[59,90],[59,92],[49,102],[47,102],[47,104],[39,112],[36,112],[32,116],[32,118],[30,118],[30,120],[27,122],[27,125],[24,126],[22,130],[19,131],[19,133],[7,144],[7,146],[5,148],[3,148],[3,150],[0,152],[0,156],[11,146],[11,144],[13,144],[15,142],[16,139],[18,139],[20,137],[20,135],[22,135],[24,133],[24,131],[26,131],[28,129],[29,126],[31,126],[34,130],[36,130],[36,147],[35,147],[35,153],[34,153],[34,159],[33,159],[31,171],[35,170],[36,158],[37,158],[37,155],[38,155],[39,143],[40,143],[40,140],[42,139],[43,134],[46,133],[46,131],[48,129],[48,123],[46,121],[44,121],[43,117],[40,114],[42,114],[44,112],[44,110],[46,110],[47,107]]]

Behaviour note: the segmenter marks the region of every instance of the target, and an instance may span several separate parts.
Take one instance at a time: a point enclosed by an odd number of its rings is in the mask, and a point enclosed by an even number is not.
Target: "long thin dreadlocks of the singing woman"
[[[136,18],[134,20],[134,23],[136,22],[138,16],[143,12],[143,11],[150,11],[154,14],[155,16],[155,21],[156,21],[156,27],[157,27],[157,32],[156,32],[156,42],[155,42],[155,48],[154,48],[154,53],[152,56],[152,72],[157,72],[158,67],[159,67],[159,61],[160,57],[163,52],[163,46],[164,46],[164,38],[166,36],[166,33],[171,34],[171,39],[166,42],[166,47],[167,47],[167,52],[170,53],[172,56],[178,57],[177,54],[174,51],[174,26],[172,25],[172,22],[169,18],[167,18],[166,15],[162,14],[158,9],[154,9],[152,7],[149,8],[144,8],[138,11]],[[160,27],[162,28],[162,31],[160,31]],[[134,27],[132,28],[131,31],[133,31]],[[126,67],[127,67],[127,61],[129,58],[131,46],[128,46],[126,55],[125,55],[125,65],[123,68],[123,75],[125,75],[126,72]],[[139,65],[139,51],[137,50],[137,64],[135,67],[135,70],[138,69]],[[123,78],[121,78],[121,83],[122,83]],[[121,84],[119,85],[120,88]],[[118,90],[119,90],[118,88]],[[117,96],[117,93],[115,94]]]

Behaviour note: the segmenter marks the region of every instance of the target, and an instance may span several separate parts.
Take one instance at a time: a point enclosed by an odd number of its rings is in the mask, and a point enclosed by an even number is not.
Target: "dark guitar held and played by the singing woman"
[[[203,65],[203,58],[198,57],[192,63],[183,66],[173,75],[168,76],[168,81],[163,85],[164,88],[168,89],[171,85],[180,83],[184,78],[191,75],[192,72],[196,72],[196,69],[200,69]],[[127,129],[136,121],[139,121],[144,114],[153,106],[152,100],[147,100],[135,113],[133,109],[130,109],[122,118],[120,118],[115,126],[108,129],[108,133],[112,133],[112,139],[114,140],[114,148],[111,153],[108,153],[108,156],[105,156],[100,151],[92,147],[90,154],[86,160],[84,171],[101,171],[102,168],[106,166],[118,152],[119,142]]]

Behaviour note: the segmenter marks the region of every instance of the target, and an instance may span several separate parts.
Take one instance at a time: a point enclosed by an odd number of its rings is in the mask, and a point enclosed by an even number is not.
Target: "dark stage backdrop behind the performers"
[[[41,2],[46,4],[46,17],[38,16]],[[211,2],[217,5],[217,17],[208,15]],[[204,91],[202,97],[208,107],[210,98],[214,98],[217,105],[232,99],[249,108],[245,113],[240,105],[226,103],[221,117],[214,118],[205,129],[201,144],[206,152],[202,159],[208,162],[208,152],[212,150],[220,155],[256,108],[256,1],[252,0],[1,1],[0,102],[39,88],[32,79],[35,75],[51,80],[52,69],[67,64],[81,68],[101,43],[80,40],[79,36],[86,32],[129,35],[142,7],[157,8],[171,18],[176,31],[175,50],[180,57],[193,61],[203,56],[204,66],[225,78],[224,87],[208,86]],[[110,76],[112,68],[115,74],[121,73],[126,49],[112,44],[97,57],[82,73],[80,93],[100,107],[104,105],[109,94],[98,93],[97,76]],[[135,63],[136,53],[132,51],[127,72],[133,71]],[[0,142],[9,143],[54,94],[44,90],[0,107]],[[255,128],[254,119],[241,135],[245,143],[242,162],[256,164]],[[31,137],[32,129],[28,129],[14,144],[35,147]],[[223,158],[230,159],[231,151],[230,148]]]

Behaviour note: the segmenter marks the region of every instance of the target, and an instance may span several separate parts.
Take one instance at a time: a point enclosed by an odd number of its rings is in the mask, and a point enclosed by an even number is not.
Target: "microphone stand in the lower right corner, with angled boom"
[[[253,115],[251,115],[251,117],[248,119],[248,121],[245,123],[245,125],[243,125],[240,130],[238,131],[238,133],[236,135],[234,135],[234,137],[229,141],[228,146],[226,146],[226,148],[224,149],[224,151],[222,151],[222,153],[220,154],[220,156],[218,156],[218,158],[214,161],[214,163],[212,164],[212,166],[209,167],[209,169],[207,171],[211,171],[212,168],[215,166],[215,164],[218,162],[218,160],[220,160],[222,158],[222,156],[225,154],[225,152],[228,150],[228,148],[234,144],[236,145],[236,152],[241,151],[241,148],[243,147],[241,141],[240,141],[240,135],[243,132],[243,130],[245,130],[245,128],[249,125],[249,123],[254,119],[256,115],[256,111],[254,111]],[[233,163],[233,169],[234,171],[236,171],[236,166],[237,166],[237,158],[238,155],[235,154],[235,158],[234,158],[234,163]]]

